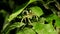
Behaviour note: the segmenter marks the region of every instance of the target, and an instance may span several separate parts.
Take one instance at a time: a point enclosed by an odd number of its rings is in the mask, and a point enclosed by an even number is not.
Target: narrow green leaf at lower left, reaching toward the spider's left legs
[[[11,30],[13,30],[13,29],[15,29],[15,28],[19,28],[19,27],[21,27],[22,25],[25,25],[25,24],[24,24],[24,23],[20,23],[20,22],[16,22],[16,23],[14,23],[14,24],[12,24],[12,25],[10,25],[10,26],[7,26],[7,27],[5,28],[5,30],[3,30],[3,33],[4,33],[4,34],[8,34],[9,31],[11,31]]]

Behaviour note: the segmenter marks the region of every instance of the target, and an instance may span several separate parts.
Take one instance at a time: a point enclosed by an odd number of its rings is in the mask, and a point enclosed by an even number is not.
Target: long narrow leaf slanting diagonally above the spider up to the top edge
[[[14,13],[12,13],[9,18],[7,19],[8,22],[6,22],[6,26],[4,25],[3,27],[7,27],[10,22],[15,18],[17,17],[30,3],[32,3],[34,1],[30,0],[29,2],[26,2],[25,4],[22,4],[21,6],[19,6],[15,11]]]

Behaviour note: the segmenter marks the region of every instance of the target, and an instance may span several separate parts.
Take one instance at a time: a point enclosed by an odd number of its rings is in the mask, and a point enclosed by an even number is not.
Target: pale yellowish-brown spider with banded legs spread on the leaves
[[[23,12],[22,12],[22,14],[24,14],[26,12],[26,15],[24,15],[23,17],[22,17],[22,20],[21,20],[21,22],[23,22],[23,20],[25,20],[25,22],[26,22],[26,18],[28,19],[28,22],[31,24],[31,21],[30,21],[30,19],[32,19],[32,17],[33,16],[36,16],[31,10],[24,10]],[[36,19],[38,20],[38,17],[36,16]]]

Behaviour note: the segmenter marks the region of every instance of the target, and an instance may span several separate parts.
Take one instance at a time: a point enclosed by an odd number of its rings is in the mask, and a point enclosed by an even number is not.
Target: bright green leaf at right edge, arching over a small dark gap
[[[55,20],[55,25],[60,28],[60,18],[54,14],[46,17],[47,22],[52,22],[52,20]]]

